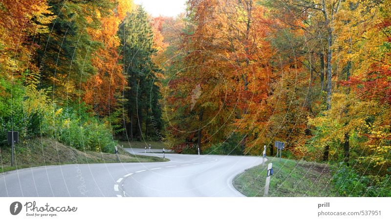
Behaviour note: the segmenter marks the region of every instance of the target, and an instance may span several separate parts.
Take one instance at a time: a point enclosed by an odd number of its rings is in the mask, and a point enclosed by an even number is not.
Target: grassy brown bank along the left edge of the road
[[[59,165],[70,163],[111,163],[111,162],[157,162],[168,161],[158,157],[139,156],[119,147],[119,159],[114,154],[79,151],[50,139],[34,139],[15,146],[15,164],[11,167],[11,148],[0,148],[0,172],[33,166]]]

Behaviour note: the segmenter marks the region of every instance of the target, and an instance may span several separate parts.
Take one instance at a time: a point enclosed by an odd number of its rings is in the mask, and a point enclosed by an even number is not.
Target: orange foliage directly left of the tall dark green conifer
[[[107,116],[116,106],[117,100],[114,96],[122,92],[126,85],[123,66],[119,62],[121,57],[117,52],[120,45],[117,32],[121,20],[130,12],[131,7],[129,0],[119,0],[116,13],[113,11],[100,18],[102,25],[99,29],[88,30],[93,40],[102,42],[103,47],[94,53],[92,65],[97,69],[97,74],[85,83],[84,100],[103,116]]]

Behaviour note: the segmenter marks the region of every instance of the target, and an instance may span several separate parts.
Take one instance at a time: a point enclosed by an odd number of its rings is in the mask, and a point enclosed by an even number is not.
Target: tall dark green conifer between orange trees
[[[121,23],[118,36],[122,43],[119,54],[124,56],[122,61],[129,87],[129,91],[124,93],[124,107],[128,109],[128,137],[131,140],[133,136],[138,137],[139,141],[147,139],[149,135],[156,138],[155,130],[161,131],[163,127],[159,104],[160,82],[157,77],[161,71],[152,62],[152,56],[157,51],[153,47],[153,32],[148,14],[141,6]]]

